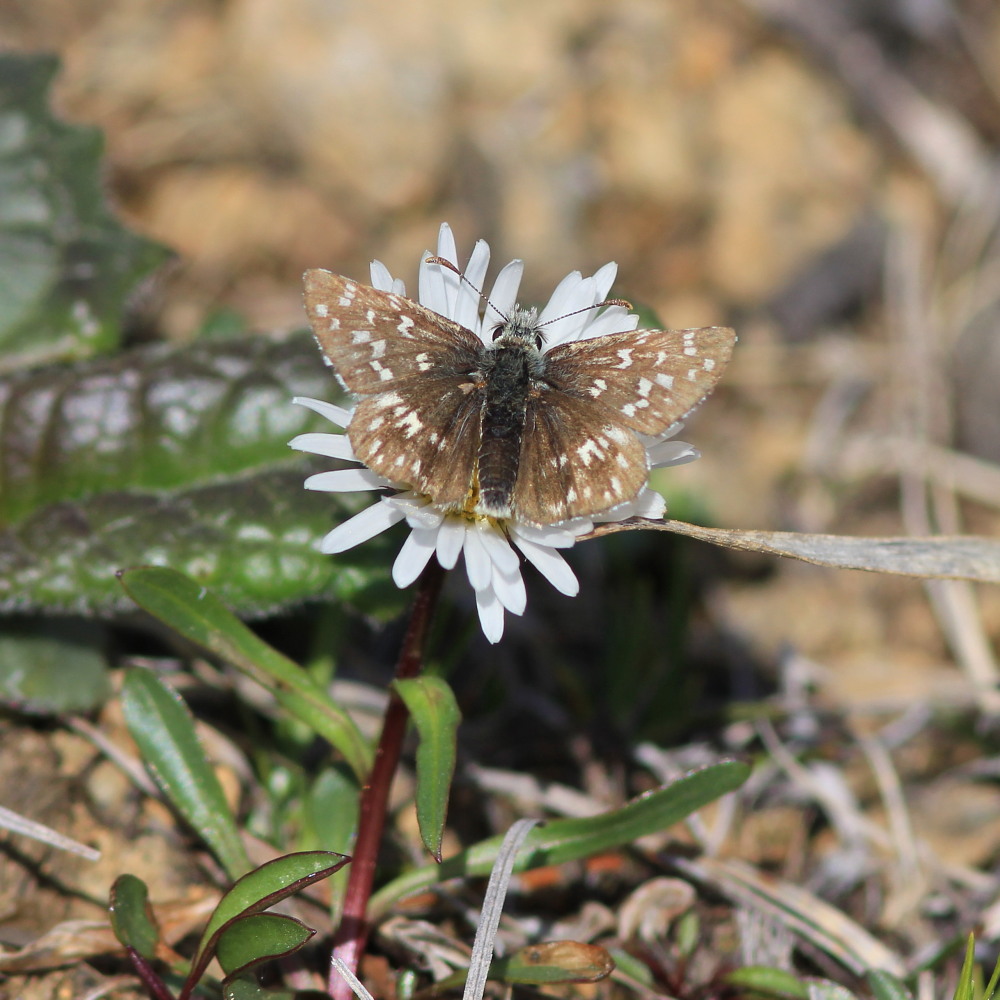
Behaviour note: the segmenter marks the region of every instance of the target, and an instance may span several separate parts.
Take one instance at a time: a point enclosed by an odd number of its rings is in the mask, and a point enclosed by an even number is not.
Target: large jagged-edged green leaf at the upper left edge
[[[48,110],[58,62],[0,55],[0,368],[83,358],[118,344],[123,304],[167,251],[104,202],[94,128]]]

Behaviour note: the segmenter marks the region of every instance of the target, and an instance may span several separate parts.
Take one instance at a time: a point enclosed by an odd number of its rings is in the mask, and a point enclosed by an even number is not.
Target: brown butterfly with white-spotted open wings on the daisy
[[[358,397],[347,435],[374,472],[470,517],[555,524],[633,500],[662,435],[715,387],[726,327],[628,330],[546,349],[533,309],[484,342],[402,295],[305,274],[316,339]]]

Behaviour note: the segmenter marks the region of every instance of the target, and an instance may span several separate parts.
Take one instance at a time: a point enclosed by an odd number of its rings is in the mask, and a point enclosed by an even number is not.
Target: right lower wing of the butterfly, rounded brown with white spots
[[[517,515],[552,524],[631,500],[646,482],[646,449],[613,410],[558,389],[528,401],[514,489]]]

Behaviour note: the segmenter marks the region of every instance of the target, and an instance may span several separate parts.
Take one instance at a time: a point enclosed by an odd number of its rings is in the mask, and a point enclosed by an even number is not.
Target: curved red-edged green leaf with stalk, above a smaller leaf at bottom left
[[[266,910],[292,893],[327,878],[348,860],[350,859],[329,851],[305,851],[301,854],[286,854],[247,872],[222,897],[209,919],[208,926],[202,933],[191,972],[181,991],[181,1000],[190,994],[201,978],[206,966],[212,960],[219,936],[230,923]]]

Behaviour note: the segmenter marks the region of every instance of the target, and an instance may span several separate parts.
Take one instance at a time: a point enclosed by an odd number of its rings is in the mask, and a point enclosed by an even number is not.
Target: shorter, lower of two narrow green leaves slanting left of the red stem
[[[174,808],[211,847],[230,877],[250,867],[236,821],[205,759],[187,705],[152,671],[129,670],[122,688],[125,724]]]

